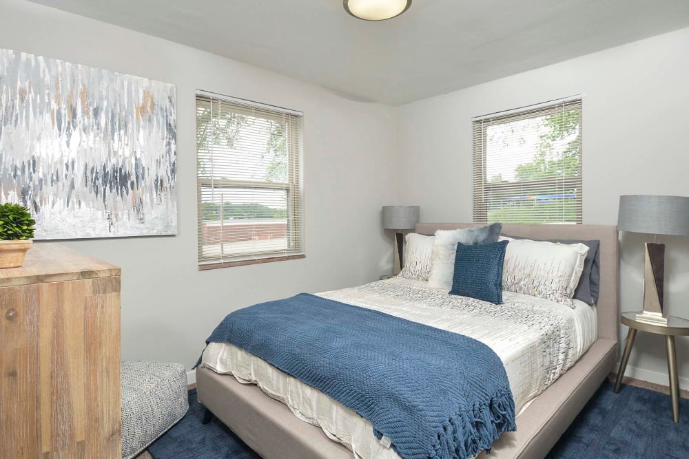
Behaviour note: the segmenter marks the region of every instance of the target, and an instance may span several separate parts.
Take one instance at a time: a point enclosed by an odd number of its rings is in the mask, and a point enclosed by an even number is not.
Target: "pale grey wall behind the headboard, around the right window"
[[[471,118],[584,94],[584,223],[617,223],[619,195],[689,195],[689,29],[398,108],[398,198],[426,222],[470,222]],[[621,236],[620,306],[641,309],[642,246]],[[666,310],[689,318],[689,237],[667,244]],[[626,328],[621,338],[626,337]],[[689,387],[689,339],[677,340]],[[665,341],[639,333],[627,374],[667,384]]]

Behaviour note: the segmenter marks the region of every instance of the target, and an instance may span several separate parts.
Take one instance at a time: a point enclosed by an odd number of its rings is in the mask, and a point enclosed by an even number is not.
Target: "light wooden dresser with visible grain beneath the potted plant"
[[[36,243],[0,269],[0,458],[120,458],[120,268]]]

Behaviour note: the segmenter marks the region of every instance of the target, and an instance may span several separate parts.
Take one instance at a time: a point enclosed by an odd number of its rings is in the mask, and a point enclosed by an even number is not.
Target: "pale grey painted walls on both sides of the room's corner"
[[[384,204],[420,204],[426,222],[470,221],[473,116],[585,94],[585,223],[615,224],[621,194],[689,195],[689,29],[393,109],[34,3],[0,0],[0,11],[0,47],[177,87],[178,235],[68,242],[123,268],[124,358],[189,367],[231,310],[389,273]],[[305,112],[306,259],[196,270],[197,88]],[[641,308],[645,240],[621,237],[622,310]],[[666,307],[689,317],[689,238],[659,240],[668,244]],[[689,387],[688,339],[678,353]],[[666,383],[664,341],[639,334],[629,365],[628,374]]]

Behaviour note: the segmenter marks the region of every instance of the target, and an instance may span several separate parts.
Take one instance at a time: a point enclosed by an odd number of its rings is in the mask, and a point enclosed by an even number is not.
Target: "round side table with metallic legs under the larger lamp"
[[[615,394],[619,392],[619,387],[622,385],[622,376],[624,376],[624,370],[627,368],[629,354],[632,352],[637,331],[664,334],[668,348],[668,376],[670,378],[670,396],[672,398],[672,419],[675,420],[675,423],[679,423],[679,378],[677,376],[675,337],[689,336],[689,320],[668,316],[668,325],[656,325],[654,323],[637,321],[636,317],[637,312],[622,312],[622,323],[629,327],[629,334],[627,335],[627,343],[624,345],[622,361],[619,364],[619,370],[617,370]]]

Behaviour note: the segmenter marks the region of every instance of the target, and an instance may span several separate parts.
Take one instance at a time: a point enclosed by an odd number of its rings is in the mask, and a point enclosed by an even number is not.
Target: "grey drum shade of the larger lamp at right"
[[[689,236],[689,197],[620,196],[617,229],[634,233]]]

